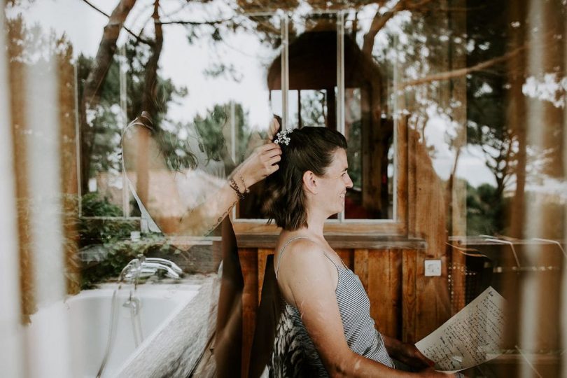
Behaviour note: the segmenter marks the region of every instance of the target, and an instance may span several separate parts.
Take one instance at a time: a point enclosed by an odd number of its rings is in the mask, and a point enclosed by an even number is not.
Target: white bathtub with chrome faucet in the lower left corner
[[[134,295],[140,300],[137,316],[144,340],[136,348],[130,308],[123,307],[130,295],[130,286],[124,285],[117,293],[115,335],[102,377],[115,377],[132,364],[139,353],[167,328],[168,323],[188,307],[200,289],[200,285],[190,284],[138,286]],[[48,370],[60,372],[61,377],[97,375],[109,339],[114,288],[116,286],[107,285],[96,290],[83,290],[64,302],[41,309],[31,317],[28,339],[31,340],[31,349],[36,347],[41,351],[38,358],[43,360],[42,363],[31,364],[32,377],[45,377],[46,363]],[[45,342],[52,344],[54,356],[45,356],[45,345],[43,348],[41,345]],[[50,354],[50,349],[47,350]]]

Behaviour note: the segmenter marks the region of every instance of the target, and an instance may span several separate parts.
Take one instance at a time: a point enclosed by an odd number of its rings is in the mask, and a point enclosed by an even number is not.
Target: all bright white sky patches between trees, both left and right
[[[111,13],[117,1],[92,1],[107,14]],[[127,18],[126,25],[134,31],[144,24],[151,16],[149,0],[139,0]],[[169,20],[217,20],[229,18],[232,14],[228,2],[213,1],[207,6],[189,4],[181,6],[183,1],[162,1],[162,14],[169,14]],[[359,13],[361,29],[367,29],[372,15],[377,8],[370,6]],[[302,8],[301,13],[309,9]],[[54,29],[57,34],[65,33],[73,44],[75,54],[82,52],[94,56],[97,52],[102,31],[108,21],[104,15],[97,13],[81,0],[41,0],[22,11],[28,24],[38,22],[43,29]],[[388,23],[391,31],[399,32],[399,22],[404,20],[402,15],[398,21],[393,18]],[[149,23],[151,25],[151,22]],[[153,34],[153,26],[148,34]],[[125,41],[127,34],[122,31],[118,44]],[[376,43],[387,43],[383,34],[378,34]],[[210,38],[197,38],[193,44],[188,43],[185,27],[179,25],[164,26],[164,45],[160,57],[160,75],[171,78],[175,85],[187,87],[188,96],[179,99],[179,104],[169,106],[169,118],[186,123],[193,120],[195,115],[204,115],[214,104],[230,101],[243,104],[248,111],[248,120],[253,129],[265,129],[269,124],[272,113],[281,113],[281,104],[272,106],[269,103],[269,93],[266,83],[267,66],[279,51],[262,45],[251,31],[241,31],[221,43],[216,43],[214,49]],[[216,53],[213,53],[216,51]],[[218,59],[221,57],[221,60]],[[204,70],[215,63],[232,64],[241,78],[235,82],[228,76],[210,78],[204,75]],[[274,97],[280,98],[280,97]],[[430,114],[426,125],[424,139],[428,146],[435,146],[433,167],[441,179],[448,179],[454,164],[454,151],[450,151],[445,142],[445,133],[450,125],[439,114]],[[461,152],[457,175],[466,179],[470,185],[479,186],[482,183],[495,185],[493,175],[486,168],[480,148],[468,146]]]

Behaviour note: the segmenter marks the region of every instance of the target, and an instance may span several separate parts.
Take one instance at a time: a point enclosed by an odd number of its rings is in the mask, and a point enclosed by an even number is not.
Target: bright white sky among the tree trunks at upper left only
[[[111,13],[117,1],[92,1],[97,7]],[[164,13],[174,12],[170,20],[216,20],[218,15],[207,15],[204,10],[186,7],[179,10],[182,1],[163,1]],[[134,31],[150,17],[151,9],[148,1],[138,1],[126,21],[126,26]],[[221,4],[222,5],[222,4]],[[209,7],[211,8],[211,7]],[[221,6],[216,10],[223,12]],[[226,10],[224,10],[226,12]],[[200,14],[199,14],[200,13]],[[214,13],[214,12],[212,12]],[[31,24],[38,22],[43,29],[54,29],[57,34],[65,33],[71,41],[75,55],[83,53],[93,57],[96,55],[102,31],[108,19],[97,13],[81,0],[41,0],[22,13]],[[149,23],[151,25],[151,22]],[[153,25],[149,34],[153,34]],[[160,56],[160,75],[172,78],[179,87],[187,87],[188,96],[180,99],[180,104],[172,104],[169,116],[173,120],[188,122],[197,113],[204,115],[214,104],[230,101],[241,102],[249,112],[251,127],[265,128],[269,125],[272,110],[269,105],[269,94],[265,75],[265,65],[279,52],[271,51],[260,45],[258,38],[250,33],[239,33],[226,38],[216,47],[223,57],[224,64],[233,64],[241,80],[235,83],[230,78],[207,78],[203,71],[211,64],[219,62],[217,56],[211,54],[209,38],[199,38],[190,45],[187,41],[186,29],[180,25],[165,25],[164,45]],[[122,31],[118,44],[125,41],[127,33]]]

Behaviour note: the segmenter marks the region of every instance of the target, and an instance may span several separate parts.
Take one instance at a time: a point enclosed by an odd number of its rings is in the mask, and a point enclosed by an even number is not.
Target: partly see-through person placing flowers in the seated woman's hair
[[[268,135],[273,136],[278,128],[274,118]],[[122,137],[123,169],[141,217],[153,232],[209,235],[251,186],[278,169],[281,149],[265,143],[254,148],[226,178],[225,163],[200,151],[207,151],[207,146],[188,142],[183,151],[185,161],[179,162],[177,151],[166,152],[160,143],[158,130],[143,112],[125,128]]]

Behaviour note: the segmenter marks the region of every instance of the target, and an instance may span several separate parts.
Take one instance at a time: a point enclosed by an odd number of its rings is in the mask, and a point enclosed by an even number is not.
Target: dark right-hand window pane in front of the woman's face
[[[354,184],[346,219],[394,218],[393,70],[380,53],[393,48],[393,38],[387,28],[380,38],[363,38],[370,14],[347,13],[345,20],[345,136]]]

